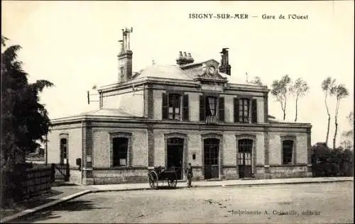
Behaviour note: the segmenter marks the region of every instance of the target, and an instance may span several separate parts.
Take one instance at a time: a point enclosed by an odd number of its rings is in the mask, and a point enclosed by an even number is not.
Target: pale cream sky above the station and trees
[[[249,18],[190,18],[190,13]],[[288,14],[307,19],[288,19]],[[18,59],[29,82],[55,84],[40,94],[50,118],[99,108],[97,102],[87,104],[86,94],[95,94],[94,85],[117,82],[118,40],[125,27],[133,27],[135,72],[153,60],[174,65],[179,51],[191,52],[195,61],[220,61],[222,47],[229,47],[232,76],[244,79],[247,72],[269,88],[285,74],[305,79],[310,91],[299,101],[298,121],[312,123],[312,144],[325,140],[321,83],[333,77],[349,89],[341,101],[338,144],[342,132],[352,128],[346,116],[354,109],[354,1],[1,1],[1,34],[10,39],[7,45],[23,47]],[[335,103],[329,99],[329,142]],[[271,94],[269,114],[283,117]],[[293,121],[295,99],[288,102],[286,117]]]

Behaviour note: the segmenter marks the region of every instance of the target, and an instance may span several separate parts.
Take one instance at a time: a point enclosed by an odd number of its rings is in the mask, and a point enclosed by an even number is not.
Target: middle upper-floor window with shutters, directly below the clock
[[[200,96],[200,121],[224,121],[224,97]]]

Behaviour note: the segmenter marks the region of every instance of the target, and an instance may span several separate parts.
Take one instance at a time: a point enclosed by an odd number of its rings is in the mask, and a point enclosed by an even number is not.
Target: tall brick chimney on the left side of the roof
[[[132,78],[132,55],[130,46],[131,29],[122,29],[121,52],[119,53],[119,82],[126,82]]]

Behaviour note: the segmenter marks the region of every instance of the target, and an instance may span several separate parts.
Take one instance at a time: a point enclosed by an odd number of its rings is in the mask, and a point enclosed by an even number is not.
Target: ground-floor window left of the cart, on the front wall
[[[114,167],[128,166],[128,138],[114,138],[113,139],[113,165]]]

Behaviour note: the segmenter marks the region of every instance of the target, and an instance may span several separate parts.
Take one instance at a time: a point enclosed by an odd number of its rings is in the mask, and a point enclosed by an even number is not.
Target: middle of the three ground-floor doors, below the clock
[[[219,178],[219,140],[204,140],[204,179]]]

